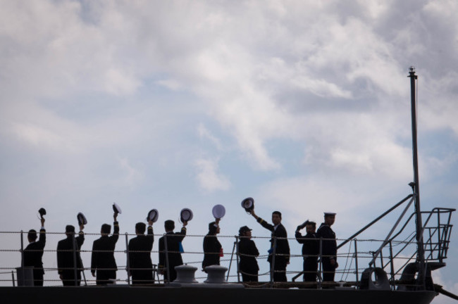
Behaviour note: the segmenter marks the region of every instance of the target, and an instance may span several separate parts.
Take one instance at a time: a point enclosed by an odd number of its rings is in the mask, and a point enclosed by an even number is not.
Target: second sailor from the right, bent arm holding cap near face
[[[304,228],[302,225],[297,226],[296,229],[296,240],[298,243],[302,243],[302,257],[304,258],[304,281],[316,281],[316,270],[318,270],[318,254],[319,254],[319,242],[316,239],[316,222],[307,222],[305,224],[305,230],[307,234],[302,236],[299,232],[300,229]]]

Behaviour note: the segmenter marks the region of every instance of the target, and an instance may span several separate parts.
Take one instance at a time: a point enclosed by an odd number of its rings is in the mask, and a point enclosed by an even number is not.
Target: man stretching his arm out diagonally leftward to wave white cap
[[[251,210],[250,214],[257,222],[259,222],[259,224],[261,224],[262,227],[272,232],[271,249],[268,251],[269,255],[267,260],[271,263],[271,277],[273,281],[287,281],[286,265],[290,263],[290,244],[287,241],[286,229],[283,227],[283,224],[281,224],[280,211],[273,211],[273,224],[268,224],[268,222],[261,219],[261,217],[258,217],[254,213],[254,210]],[[275,254],[274,257],[273,254]]]

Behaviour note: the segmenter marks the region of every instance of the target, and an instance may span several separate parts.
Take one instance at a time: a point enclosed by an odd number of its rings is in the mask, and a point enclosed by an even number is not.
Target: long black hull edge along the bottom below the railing
[[[428,304],[434,291],[168,287],[0,287],[2,303]]]

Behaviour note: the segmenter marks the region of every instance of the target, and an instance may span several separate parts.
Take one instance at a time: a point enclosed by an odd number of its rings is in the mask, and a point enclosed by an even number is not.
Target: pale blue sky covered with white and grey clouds
[[[202,250],[221,204],[221,236],[248,225],[265,253],[270,232],[241,208],[246,197],[266,220],[280,210],[290,237],[325,211],[338,213],[338,238],[351,236],[411,193],[411,65],[421,208],[457,206],[456,1],[0,5],[0,231],[39,229],[37,210],[46,208],[45,227],[56,234],[45,267],[56,267],[58,233],[78,212],[90,250],[112,222],[113,202],[123,234],[159,210],[157,237],[163,220],[179,227],[190,208],[188,234],[199,237],[184,241],[187,251]],[[384,239],[399,215],[361,238]],[[1,237],[1,249],[20,248],[20,234]],[[229,258],[234,239],[220,239]],[[123,240],[118,265],[124,248]],[[1,254],[2,269],[20,265],[17,252]],[[433,279],[454,293],[457,255],[452,229],[447,267]],[[267,271],[264,259],[259,265]],[[295,258],[288,270],[300,265]]]

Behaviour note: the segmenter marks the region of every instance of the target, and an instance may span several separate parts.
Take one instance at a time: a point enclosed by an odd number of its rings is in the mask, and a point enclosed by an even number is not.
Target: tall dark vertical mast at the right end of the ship
[[[421,210],[420,210],[420,183],[419,183],[419,160],[418,151],[416,144],[416,79],[415,68],[411,66],[409,68],[410,78],[410,94],[411,94],[411,122],[412,122],[412,153],[414,160],[414,185],[412,189],[414,191],[414,203],[415,203],[415,222],[416,222],[416,262],[419,262],[419,283],[424,286],[425,279],[425,255],[423,249],[423,222],[421,221]]]

